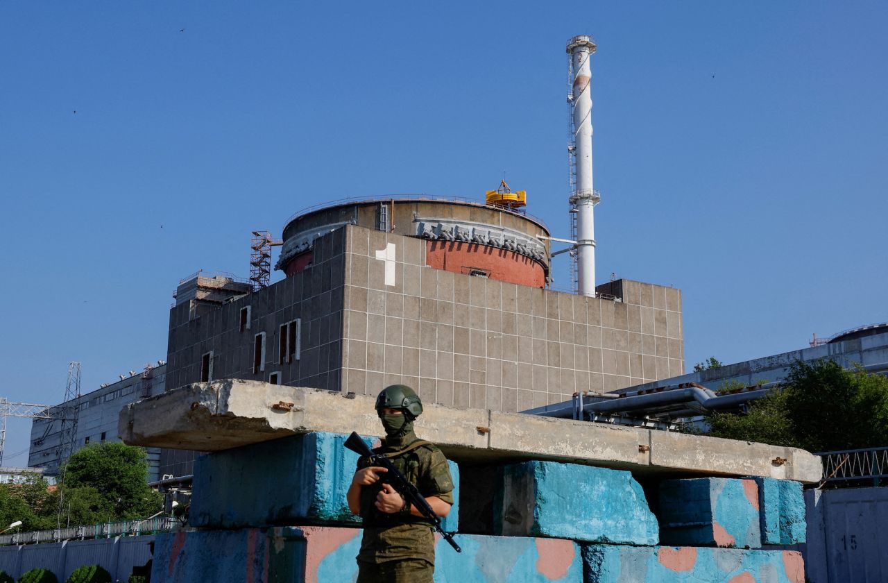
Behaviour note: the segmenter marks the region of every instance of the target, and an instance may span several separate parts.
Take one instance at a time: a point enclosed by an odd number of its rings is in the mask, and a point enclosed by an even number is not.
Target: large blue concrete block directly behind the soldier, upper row
[[[189,523],[199,528],[360,525],[345,499],[358,463],[358,455],[345,449],[346,437],[315,432],[202,456],[194,462]],[[459,470],[453,462],[450,472],[455,504],[444,527],[456,531]]]

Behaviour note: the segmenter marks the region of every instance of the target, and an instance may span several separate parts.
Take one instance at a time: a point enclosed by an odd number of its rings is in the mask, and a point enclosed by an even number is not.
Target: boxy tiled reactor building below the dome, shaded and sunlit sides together
[[[405,383],[428,402],[521,411],[684,371],[678,289],[552,292],[435,268],[432,243],[340,225],[276,284],[179,303],[168,386],[232,378],[375,395]]]

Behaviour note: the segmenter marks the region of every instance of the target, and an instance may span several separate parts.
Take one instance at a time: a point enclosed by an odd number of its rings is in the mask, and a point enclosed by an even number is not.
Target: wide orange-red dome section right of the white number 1
[[[543,265],[507,249],[460,241],[428,241],[425,263],[430,268],[466,276],[485,275],[510,284],[545,287]]]

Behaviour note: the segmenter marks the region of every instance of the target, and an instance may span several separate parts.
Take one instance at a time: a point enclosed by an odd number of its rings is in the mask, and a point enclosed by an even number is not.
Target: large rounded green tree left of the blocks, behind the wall
[[[145,450],[125,443],[94,443],[75,452],[66,463],[65,512],[72,520],[95,523],[144,518],[163,506],[163,496],[147,485]]]

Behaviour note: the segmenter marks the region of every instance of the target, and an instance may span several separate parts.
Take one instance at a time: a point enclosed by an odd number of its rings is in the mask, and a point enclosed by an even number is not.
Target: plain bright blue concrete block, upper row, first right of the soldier
[[[503,467],[494,531],[588,542],[655,545],[658,526],[629,472],[527,461]]]

